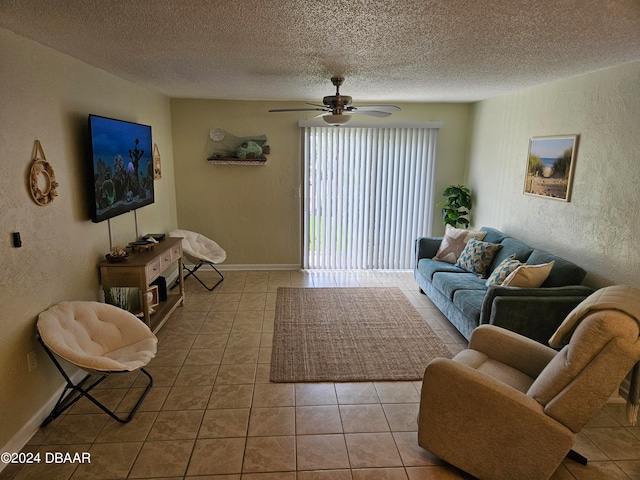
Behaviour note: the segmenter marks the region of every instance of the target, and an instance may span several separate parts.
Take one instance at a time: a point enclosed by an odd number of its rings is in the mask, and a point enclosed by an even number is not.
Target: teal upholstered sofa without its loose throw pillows
[[[567,260],[539,250],[495,228],[483,227],[484,242],[500,244],[488,273],[511,255],[529,265],[554,261],[540,288],[486,285],[457,266],[434,260],[442,237],[416,240],[414,276],[420,292],[426,294],[447,319],[467,339],[482,324],[506,328],[547,344],[567,314],[593,289],[581,285],[586,271]]]

